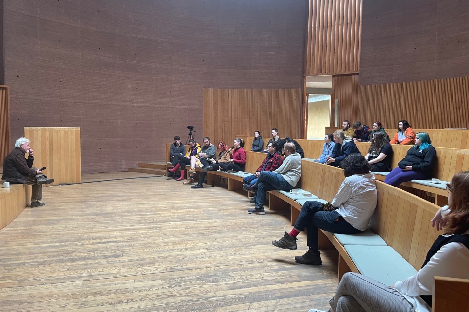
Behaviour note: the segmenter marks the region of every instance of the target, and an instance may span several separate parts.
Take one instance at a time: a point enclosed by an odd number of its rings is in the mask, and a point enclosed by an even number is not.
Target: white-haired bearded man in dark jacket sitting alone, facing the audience
[[[54,179],[48,179],[42,171],[33,167],[34,151],[29,146],[31,141],[24,137],[18,138],[15,142],[15,148],[3,160],[2,180],[10,184],[26,183],[32,186],[31,189],[31,208],[44,206],[40,203],[42,200],[42,185],[54,182]],[[28,153],[28,159],[26,159]]]

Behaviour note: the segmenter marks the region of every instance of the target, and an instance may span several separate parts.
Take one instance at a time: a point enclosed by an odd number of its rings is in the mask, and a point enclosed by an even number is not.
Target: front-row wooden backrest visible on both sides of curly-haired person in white
[[[301,161],[301,188],[332,201],[344,180],[341,169],[309,160]],[[439,207],[397,187],[376,181],[378,204],[370,229],[419,269],[439,234],[430,220]]]

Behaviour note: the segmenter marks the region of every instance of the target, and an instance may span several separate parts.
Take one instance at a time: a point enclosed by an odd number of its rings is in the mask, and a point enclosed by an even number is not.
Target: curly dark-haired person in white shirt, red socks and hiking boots
[[[331,205],[333,210],[323,211],[322,203],[308,201],[301,207],[293,229],[284,237],[274,240],[272,245],[279,248],[297,249],[297,236],[307,229],[308,252],[296,256],[295,261],[307,265],[321,265],[318,248],[318,231],[355,234],[365,231],[378,202],[376,181],[370,172],[368,161],[360,154],[351,154],[343,164],[345,180],[340,185]],[[335,208],[335,209],[334,209]]]

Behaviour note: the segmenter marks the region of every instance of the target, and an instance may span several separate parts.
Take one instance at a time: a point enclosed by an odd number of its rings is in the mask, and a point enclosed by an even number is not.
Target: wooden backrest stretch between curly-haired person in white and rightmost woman
[[[415,195],[376,181],[378,205],[370,229],[419,270],[436,237],[430,220],[439,207]]]

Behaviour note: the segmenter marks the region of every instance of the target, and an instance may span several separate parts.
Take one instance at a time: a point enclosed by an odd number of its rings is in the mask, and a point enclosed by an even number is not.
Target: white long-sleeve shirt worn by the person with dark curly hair
[[[331,204],[355,229],[365,231],[377,203],[376,180],[368,172],[346,177]]]

